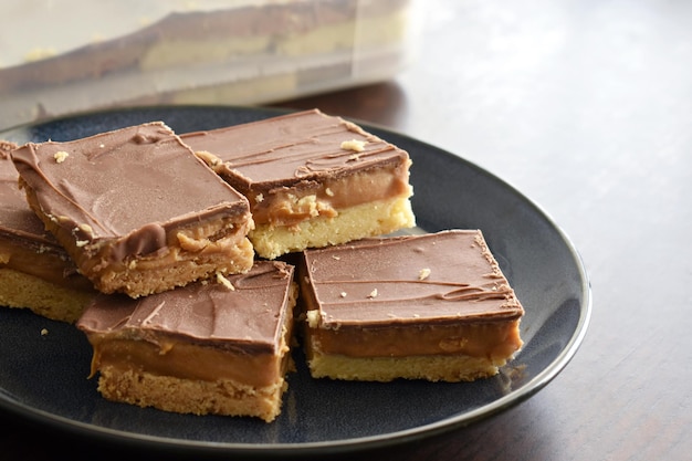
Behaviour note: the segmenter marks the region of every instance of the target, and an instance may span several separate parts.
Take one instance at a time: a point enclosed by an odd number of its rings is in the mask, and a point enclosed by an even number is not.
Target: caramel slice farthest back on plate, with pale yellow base
[[[408,154],[317,109],[181,135],[250,201],[259,256],[415,226]]]

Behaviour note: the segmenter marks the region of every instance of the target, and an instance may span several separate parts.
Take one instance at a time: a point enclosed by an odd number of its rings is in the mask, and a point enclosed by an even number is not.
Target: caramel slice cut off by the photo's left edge
[[[0,140],[0,305],[73,323],[96,292],[27,205],[14,148]]]

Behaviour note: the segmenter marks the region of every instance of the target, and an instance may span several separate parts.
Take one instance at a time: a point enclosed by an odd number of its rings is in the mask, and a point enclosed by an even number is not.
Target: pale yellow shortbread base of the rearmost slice
[[[338,210],[336,217],[316,217],[294,226],[256,224],[248,233],[255,252],[265,259],[308,248],[324,248],[416,226],[408,197],[363,203]]]

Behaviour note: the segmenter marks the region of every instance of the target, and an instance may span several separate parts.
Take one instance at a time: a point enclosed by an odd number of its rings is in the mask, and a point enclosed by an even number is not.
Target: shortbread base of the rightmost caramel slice
[[[308,359],[313,378],[388,383],[398,378],[429,381],[473,381],[497,374],[505,359],[468,355],[347,357],[315,353]]]

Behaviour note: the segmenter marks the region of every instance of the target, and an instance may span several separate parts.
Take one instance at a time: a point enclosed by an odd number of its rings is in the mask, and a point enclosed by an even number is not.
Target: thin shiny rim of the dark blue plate
[[[86,111],[83,113],[73,114],[70,116],[61,116],[54,118],[48,118],[35,123],[25,123],[13,127],[4,128],[0,130],[0,139],[12,132],[20,132],[31,127],[41,125],[69,122],[71,119],[84,118],[90,116],[103,116],[109,113],[112,114],[126,114],[136,112],[153,111],[156,113],[169,113],[172,111],[228,111],[238,112],[245,111],[258,113],[262,115],[280,115],[282,113],[297,112],[300,109],[286,109],[279,107],[252,107],[242,105],[158,105],[158,106],[134,106],[134,107],[116,107],[105,111]],[[333,114],[331,114],[333,115]],[[572,362],[588,332],[593,314],[593,292],[588,272],[584,260],[574,244],[569,235],[564,229],[557,224],[553,217],[537,202],[525,196],[517,188],[511,185],[508,181],[494,175],[492,171],[480,167],[478,164],[470,161],[461,155],[455,155],[444,148],[438,147],[424,140],[413,138],[400,130],[386,127],[381,124],[371,122],[365,122],[355,117],[346,117],[349,122],[356,123],[366,130],[378,130],[384,134],[392,134],[400,138],[406,138],[407,142],[418,144],[427,149],[434,150],[436,155],[443,155],[453,158],[454,161],[461,161],[465,167],[473,169],[476,174],[485,176],[493,182],[501,187],[506,188],[515,197],[521,199],[526,206],[530,206],[534,211],[545,220],[545,222],[555,231],[566,250],[572,255],[575,266],[577,269],[581,290],[581,303],[579,303],[579,316],[575,325],[575,329],[572,333],[569,339],[566,342],[563,349],[557,357],[553,359],[548,366],[542,369],[538,374],[532,377],[528,381],[523,384],[518,389],[483,405],[470,411],[465,411],[460,415],[451,416],[413,428],[398,430],[395,432],[380,433],[374,436],[364,436],[349,439],[338,439],[328,441],[314,441],[314,442],[277,442],[277,443],[247,443],[247,442],[217,442],[217,441],[201,441],[201,440],[188,440],[174,437],[161,437],[143,434],[137,432],[129,432],[125,430],[116,430],[112,428],[91,425],[87,422],[74,420],[64,416],[55,415],[43,409],[33,408],[24,402],[13,399],[11,396],[4,392],[4,389],[0,388],[0,408],[4,411],[19,415],[33,422],[51,426],[52,428],[66,431],[75,436],[95,436],[99,440],[116,443],[125,447],[140,447],[147,449],[176,449],[182,450],[186,453],[195,454],[262,454],[262,455],[308,455],[315,453],[347,453],[365,449],[385,448],[406,442],[412,442],[424,438],[450,432],[455,429],[471,426],[481,420],[491,418],[504,410],[515,407],[539,390],[547,386],[557,375],[559,375],[565,367]],[[11,140],[11,139],[10,139]]]

